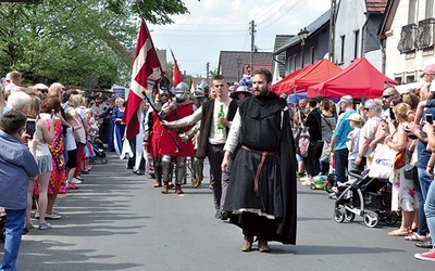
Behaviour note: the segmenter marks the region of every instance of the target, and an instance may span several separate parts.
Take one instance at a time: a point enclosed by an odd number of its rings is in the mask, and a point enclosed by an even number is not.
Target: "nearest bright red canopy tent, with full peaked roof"
[[[381,74],[365,59],[358,59],[336,76],[308,88],[308,96],[322,95],[325,98],[353,98],[374,99],[382,96],[385,85],[397,85],[395,80]]]

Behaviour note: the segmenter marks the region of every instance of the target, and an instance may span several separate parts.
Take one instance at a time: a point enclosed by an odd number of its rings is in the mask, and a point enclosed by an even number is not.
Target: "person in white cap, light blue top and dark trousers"
[[[349,116],[357,113],[352,105],[353,99],[350,95],[341,96],[339,101],[340,107],[344,111],[338,117],[337,127],[334,130],[333,138],[331,140],[331,145],[327,151],[334,152],[335,157],[335,171],[337,172],[337,178],[335,179],[335,185],[337,182],[346,182],[346,168],[348,165],[349,150],[346,146],[347,136],[353,129],[350,127]]]

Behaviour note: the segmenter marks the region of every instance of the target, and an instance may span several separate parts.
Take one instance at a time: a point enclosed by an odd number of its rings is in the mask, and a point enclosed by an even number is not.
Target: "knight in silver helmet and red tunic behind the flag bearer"
[[[175,101],[163,104],[159,113],[161,119],[175,121],[194,113],[194,102],[190,99],[189,86],[179,82],[175,87]],[[175,193],[183,194],[182,182],[185,176],[186,157],[195,156],[194,144],[188,140],[186,132],[191,126],[163,130],[160,154],[162,155],[163,189],[162,193],[167,194],[171,180],[171,164],[175,162]]]

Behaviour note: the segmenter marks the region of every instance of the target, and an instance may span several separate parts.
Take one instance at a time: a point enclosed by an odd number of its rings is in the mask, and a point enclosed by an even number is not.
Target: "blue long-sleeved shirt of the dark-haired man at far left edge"
[[[28,179],[38,175],[38,165],[28,147],[0,130],[0,206],[27,208]]]

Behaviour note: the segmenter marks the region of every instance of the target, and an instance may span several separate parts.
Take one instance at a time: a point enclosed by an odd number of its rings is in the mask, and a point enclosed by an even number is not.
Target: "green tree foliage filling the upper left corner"
[[[25,83],[83,86],[84,78],[92,77],[100,88],[128,86],[138,8],[154,24],[187,12],[179,0],[2,2],[0,76],[17,69]]]

